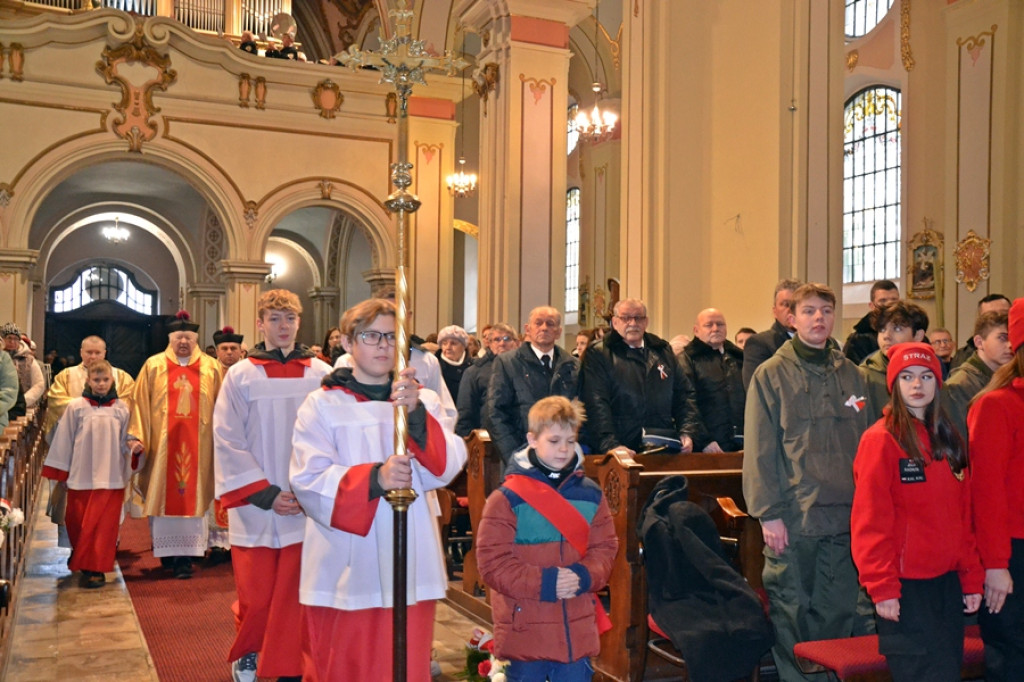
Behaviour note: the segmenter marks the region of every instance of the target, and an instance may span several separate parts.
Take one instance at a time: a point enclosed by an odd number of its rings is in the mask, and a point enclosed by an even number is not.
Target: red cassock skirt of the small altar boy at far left
[[[65,523],[74,550],[68,567],[72,570],[114,570],[121,525],[123,489],[68,491]]]

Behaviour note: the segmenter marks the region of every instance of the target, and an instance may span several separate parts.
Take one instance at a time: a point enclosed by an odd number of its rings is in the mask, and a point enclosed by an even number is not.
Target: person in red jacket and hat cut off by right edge
[[[1014,358],[995,371],[967,416],[988,682],[1024,680],[1024,298],[1010,308],[1010,346]]]

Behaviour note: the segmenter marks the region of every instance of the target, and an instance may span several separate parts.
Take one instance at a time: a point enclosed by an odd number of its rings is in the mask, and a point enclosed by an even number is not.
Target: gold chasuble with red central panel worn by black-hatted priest
[[[145,446],[142,516],[203,516],[213,501],[213,403],[220,364],[198,347],[182,367],[168,348],[142,366],[128,433]]]

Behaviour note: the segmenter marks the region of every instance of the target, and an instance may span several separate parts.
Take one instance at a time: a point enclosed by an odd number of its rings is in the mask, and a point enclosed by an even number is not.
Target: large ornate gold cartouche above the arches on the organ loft
[[[157,124],[153,117],[160,113],[160,108],[153,103],[154,92],[166,91],[177,80],[177,73],[171,69],[171,58],[160,54],[148,44],[142,29],[142,17],[138,17],[135,19],[135,33],[131,40],[114,48],[104,48],[100,60],[96,62],[96,71],[106,84],[117,83],[121,88],[121,101],[114,104],[121,118],[114,122],[114,133],[128,140],[132,152],[140,152],[142,142],[157,136]],[[119,73],[122,65],[136,63],[156,73],[138,84]]]

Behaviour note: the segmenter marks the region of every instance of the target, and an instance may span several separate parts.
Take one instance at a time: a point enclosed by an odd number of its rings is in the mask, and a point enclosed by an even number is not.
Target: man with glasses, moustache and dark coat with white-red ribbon
[[[587,408],[584,442],[594,453],[632,452],[660,440],[670,452],[693,450],[693,386],[672,346],[647,333],[647,306],[627,298],[612,308],[611,331],[587,350],[580,395]]]

